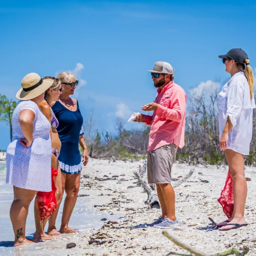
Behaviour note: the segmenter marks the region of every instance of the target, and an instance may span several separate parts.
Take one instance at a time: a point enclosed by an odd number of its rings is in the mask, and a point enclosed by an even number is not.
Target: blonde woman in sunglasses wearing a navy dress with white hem
[[[69,228],[68,222],[80,187],[82,165],[78,144],[83,149],[84,166],[88,162],[88,151],[83,139],[83,117],[79,104],[76,99],[70,97],[78,86],[76,76],[64,71],[57,78],[62,84],[62,94],[59,101],[52,106],[52,110],[59,121],[57,131],[61,141],[61,151],[58,160],[62,174],[62,189],[66,192],[60,233],[75,233],[77,231]]]

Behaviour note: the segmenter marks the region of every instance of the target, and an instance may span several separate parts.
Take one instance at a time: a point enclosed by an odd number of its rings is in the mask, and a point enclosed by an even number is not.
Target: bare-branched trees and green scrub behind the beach
[[[188,93],[186,109],[185,146],[178,149],[176,161],[188,165],[226,164],[224,152],[219,149],[218,93],[220,82],[212,86],[192,89]],[[0,121],[10,126],[12,139],[12,113],[17,103],[0,94]],[[256,112],[253,113],[253,134],[250,155],[245,156],[245,165],[256,166]],[[84,124],[84,138],[92,158],[115,157],[124,160],[146,158],[150,127],[141,130],[125,129],[124,120],[115,121],[115,135],[99,131],[94,123],[93,111]]]

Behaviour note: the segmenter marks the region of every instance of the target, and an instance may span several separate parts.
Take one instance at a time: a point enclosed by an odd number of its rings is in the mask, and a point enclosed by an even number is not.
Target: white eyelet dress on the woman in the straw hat
[[[19,125],[23,109],[35,113],[33,142],[29,148],[20,144],[24,135]],[[6,183],[19,188],[49,192],[51,183],[50,122],[33,101],[19,101],[12,116],[13,139],[6,151]]]

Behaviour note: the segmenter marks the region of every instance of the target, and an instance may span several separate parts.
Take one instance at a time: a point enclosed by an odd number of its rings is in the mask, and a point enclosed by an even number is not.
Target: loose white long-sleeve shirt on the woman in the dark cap
[[[233,125],[228,135],[228,149],[249,155],[252,139],[252,114],[256,108],[254,97],[243,71],[233,75],[224,85],[218,97],[220,138],[229,116]]]

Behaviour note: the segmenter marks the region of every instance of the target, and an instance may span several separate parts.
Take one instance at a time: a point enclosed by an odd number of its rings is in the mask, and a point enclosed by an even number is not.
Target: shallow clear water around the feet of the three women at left
[[[0,255],[65,255],[65,245],[69,242],[75,242],[85,234],[88,235],[89,230],[101,227],[104,223],[100,221],[102,218],[108,220],[116,220],[119,216],[110,216],[104,212],[96,211],[93,208],[93,202],[90,197],[78,197],[77,202],[70,218],[70,227],[81,231],[77,234],[65,234],[60,236],[60,239],[55,240],[56,246],[53,246],[51,241],[37,243],[33,245],[25,245],[13,247],[14,234],[12,223],[9,216],[9,210],[13,201],[13,186],[5,184],[6,165],[0,164]],[[65,194],[60,206],[59,214],[56,220],[57,229],[61,224],[62,209],[65,200]],[[46,225],[47,230],[47,225]],[[29,213],[26,223],[26,237],[33,238],[35,232],[34,222],[34,200],[29,207]],[[90,233],[90,232],[89,232]],[[51,249],[48,247],[51,242]],[[53,247],[52,247],[53,246]],[[56,247],[56,248],[55,248]],[[54,250],[54,248],[56,250]],[[63,248],[64,251],[61,250]],[[49,249],[52,251],[50,252]]]

